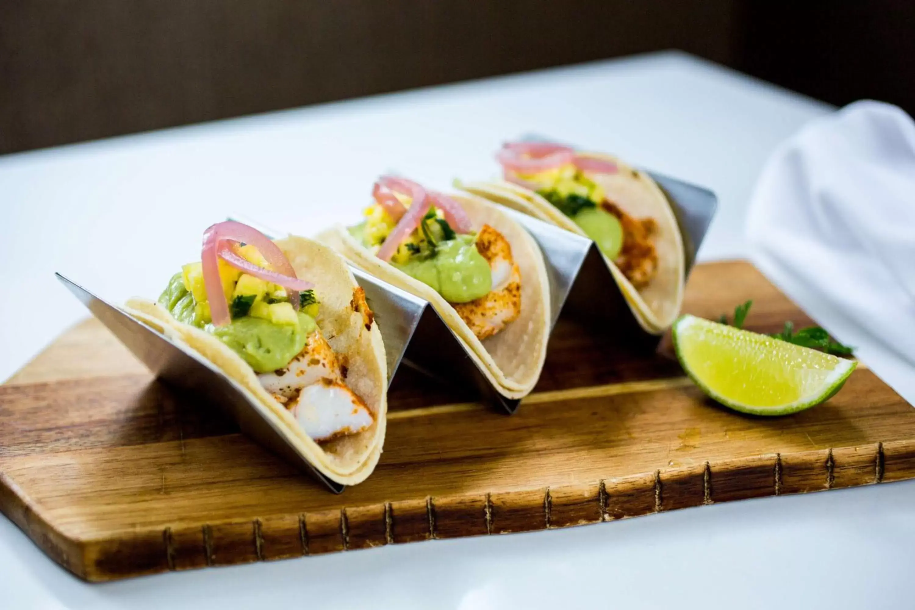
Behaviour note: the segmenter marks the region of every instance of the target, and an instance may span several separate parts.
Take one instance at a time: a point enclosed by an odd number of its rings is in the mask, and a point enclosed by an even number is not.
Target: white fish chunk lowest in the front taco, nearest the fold
[[[374,422],[365,402],[339,382],[313,383],[287,407],[308,436],[318,442],[360,433]]]

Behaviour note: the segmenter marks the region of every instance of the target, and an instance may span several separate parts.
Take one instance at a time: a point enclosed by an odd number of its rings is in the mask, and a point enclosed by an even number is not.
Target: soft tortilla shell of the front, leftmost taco
[[[295,417],[274,400],[251,366],[218,338],[178,322],[167,309],[147,299],[131,299],[125,308],[137,319],[162,328],[167,336],[179,338],[190,348],[222,369],[248,393],[263,417],[322,474],[343,485],[360,483],[378,463],[387,422],[387,364],[378,325],[366,327],[354,291],[359,288],[346,262],[327,246],[301,237],[276,241],[296,269],[296,275],[315,284],[321,303],[318,327],[330,347],[347,362],[347,385],[358,394],[375,422],[361,433],[343,436],[326,444],[313,441],[296,423]],[[361,289],[360,289],[361,290]]]

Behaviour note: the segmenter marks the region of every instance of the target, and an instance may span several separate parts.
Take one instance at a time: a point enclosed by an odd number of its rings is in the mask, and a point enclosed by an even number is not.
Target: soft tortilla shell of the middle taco
[[[473,230],[488,224],[505,236],[522,277],[521,315],[498,335],[482,341],[441,294],[379,259],[353,239],[345,227],[336,226],[322,232],[318,241],[335,248],[366,273],[431,303],[501,394],[512,399],[522,398],[533,390],[540,378],[549,339],[550,295],[543,254],[527,231],[498,206],[477,197],[454,197],[470,217]]]

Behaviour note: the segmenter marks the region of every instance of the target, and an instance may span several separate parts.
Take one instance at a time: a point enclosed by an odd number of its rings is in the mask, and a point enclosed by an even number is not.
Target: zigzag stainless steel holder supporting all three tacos
[[[665,191],[680,225],[688,274],[715,214],[716,196],[710,190],[671,177],[651,172],[650,175]],[[561,313],[584,315],[596,322],[611,321],[613,335],[625,337],[634,348],[653,349],[657,346],[660,336],[642,330],[593,241],[520,212],[506,211],[530,232],[544,253],[550,283],[551,330]],[[259,227],[248,219],[243,221],[266,235],[279,237],[282,234]],[[517,410],[521,401],[501,394],[475,360],[470,358],[466,344],[425,299],[355,267],[351,267],[351,271],[365,291],[382,332],[389,385],[403,362],[443,383],[476,387],[482,401],[499,406],[506,412]],[[345,486],[328,479],[298,453],[285,433],[264,419],[253,406],[248,393],[209,360],[127,315],[69,278],[59,273],[56,275],[157,378],[178,390],[188,391],[218,405],[239,423],[243,433],[315,476],[330,491],[343,491]]]

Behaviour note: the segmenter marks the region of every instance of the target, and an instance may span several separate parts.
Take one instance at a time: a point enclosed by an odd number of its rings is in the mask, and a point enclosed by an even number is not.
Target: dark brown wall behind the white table
[[[915,3],[775,4],[5,0],[0,154],[662,48],[915,106]]]

